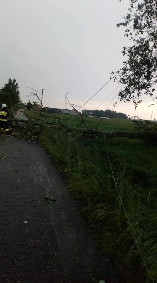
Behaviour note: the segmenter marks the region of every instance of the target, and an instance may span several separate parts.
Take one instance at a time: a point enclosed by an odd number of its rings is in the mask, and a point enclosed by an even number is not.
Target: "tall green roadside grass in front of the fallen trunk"
[[[82,211],[97,227],[102,249],[117,255],[119,262],[139,268],[145,267],[142,255],[150,273],[146,271],[146,282],[151,282],[151,278],[156,281],[157,175],[153,170],[152,173],[147,170],[147,166],[152,166],[148,151],[151,155],[156,149],[149,146],[145,149],[146,145],[140,140],[136,140],[136,145],[135,141],[125,138],[107,139],[115,180],[130,227],[113,182],[101,137],[43,129],[40,142],[59,169],[66,172],[68,189],[79,198]],[[129,155],[127,151],[131,151],[131,143],[134,143],[134,153],[132,151]],[[139,165],[139,147],[142,146],[148,163],[146,165]]]

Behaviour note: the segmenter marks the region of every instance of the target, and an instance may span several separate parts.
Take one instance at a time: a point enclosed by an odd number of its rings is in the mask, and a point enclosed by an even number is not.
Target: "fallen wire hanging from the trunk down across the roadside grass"
[[[126,213],[126,210],[125,210],[125,208],[124,208],[124,205],[123,205],[123,202],[122,202],[122,199],[121,199],[121,196],[120,196],[118,187],[117,187],[117,183],[116,183],[116,180],[115,180],[115,177],[114,177],[114,173],[113,173],[111,161],[110,161],[110,158],[109,158],[109,153],[108,153],[108,150],[107,150],[107,145],[106,145],[106,141],[105,141],[105,136],[104,136],[104,134],[103,134],[103,138],[104,138],[104,143],[105,143],[105,147],[106,147],[107,157],[108,157],[108,159],[109,159],[109,164],[110,164],[111,171],[112,171],[113,180],[114,180],[114,183],[115,183],[115,186],[116,186],[118,195],[119,195],[119,199],[120,199],[121,205],[122,205],[122,207],[123,207],[124,213],[125,213],[125,215],[126,215],[127,221],[128,221],[128,223],[129,223],[129,226],[130,226],[131,231],[132,231],[132,226],[131,226],[129,217],[128,217],[127,213]],[[141,251],[140,251],[140,248],[139,248],[139,244],[137,243],[137,240],[136,240],[136,238],[135,238],[135,235],[134,235],[133,231],[132,231],[132,234],[133,234],[135,243],[136,243],[136,245],[137,245],[137,248],[138,248],[138,250],[139,250],[139,252],[140,252],[140,254],[141,254]],[[153,279],[152,279],[152,277],[151,277],[151,274],[150,274],[150,272],[149,272],[149,270],[148,270],[148,267],[147,267],[147,265],[146,265],[146,262],[145,262],[144,257],[143,257],[142,254],[141,254],[141,258],[142,258],[142,260],[143,260],[143,262],[144,262],[144,265],[145,265],[145,267],[146,267],[146,270],[147,270],[147,272],[148,272],[148,274],[149,274],[149,276],[150,276],[150,278],[151,278],[151,281],[154,283],[154,281],[153,281]]]

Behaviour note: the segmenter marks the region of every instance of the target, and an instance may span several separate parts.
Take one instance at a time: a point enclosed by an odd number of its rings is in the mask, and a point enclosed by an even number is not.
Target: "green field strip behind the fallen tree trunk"
[[[89,129],[97,129],[102,131],[134,131],[134,126],[132,125],[131,120],[126,119],[101,119],[97,117],[92,118],[82,116],[82,122],[81,118],[75,115],[54,113],[54,116],[52,116],[51,114],[42,111],[28,111],[28,113],[31,116],[45,119],[45,121],[50,123],[56,121],[55,117],[57,117],[61,123],[78,128],[86,128],[87,126]]]

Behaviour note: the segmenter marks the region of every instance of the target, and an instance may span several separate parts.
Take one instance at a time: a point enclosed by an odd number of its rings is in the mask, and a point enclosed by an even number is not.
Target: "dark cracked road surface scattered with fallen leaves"
[[[45,150],[0,136],[0,282],[122,283]],[[47,204],[44,195],[56,202]]]

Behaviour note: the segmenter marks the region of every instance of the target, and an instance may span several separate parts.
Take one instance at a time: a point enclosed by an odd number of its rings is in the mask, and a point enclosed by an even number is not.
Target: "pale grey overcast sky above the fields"
[[[66,92],[71,103],[83,105],[122,66],[121,50],[129,40],[116,24],[128,7],[129,0],[0,0],[0,88],[15,78],[23,102],[32,87],[40,95],[45,89],[44,106],[65,108]],[[112,110],[120,87],[99,104],[116,87],[111,81],[82,109]],[[151,103],[146,97],[136,111],[132,103],[115,111],[145,119],[153,111],[157,119]]]

